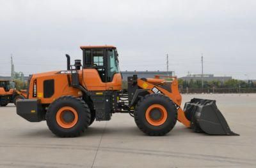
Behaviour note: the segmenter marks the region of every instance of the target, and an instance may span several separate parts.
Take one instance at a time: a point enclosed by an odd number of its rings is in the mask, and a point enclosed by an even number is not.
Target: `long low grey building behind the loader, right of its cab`
[[[127,81],[128,76],[138,75],[138,78],[154,78],[155,75],[172,76],[173,71],[122,71],[123,80]]]

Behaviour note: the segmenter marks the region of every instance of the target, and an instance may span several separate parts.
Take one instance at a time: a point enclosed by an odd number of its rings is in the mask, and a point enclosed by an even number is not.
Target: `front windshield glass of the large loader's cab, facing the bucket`
[[[108,67],[108,81],[112,81],[114,74],[120,73],[116,50],[108,50]]]

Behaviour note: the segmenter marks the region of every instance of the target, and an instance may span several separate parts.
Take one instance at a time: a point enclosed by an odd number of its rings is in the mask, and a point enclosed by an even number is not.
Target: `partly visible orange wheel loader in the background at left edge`
[[[25,99],[26,90],[17,90],[15,81],[0,80],[0,106],[7,106],[8,103],[14,103],[19,99]]]

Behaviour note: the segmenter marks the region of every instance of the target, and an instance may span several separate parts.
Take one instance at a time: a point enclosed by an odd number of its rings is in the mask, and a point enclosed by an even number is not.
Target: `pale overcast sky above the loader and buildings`
[[[0,76],[66,69],[81,45],[115,45],[122,71],[256,79],[256,1],[0,0]]]

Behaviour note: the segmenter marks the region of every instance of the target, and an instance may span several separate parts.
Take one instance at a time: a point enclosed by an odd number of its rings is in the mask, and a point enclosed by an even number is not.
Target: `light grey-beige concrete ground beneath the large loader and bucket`
[[[76,138],[58,138],[0,107],[0,167],[256,167],[256,94],[183,95],[216,99],[241,136],[196,134],[180,123],[166,136],[145,136],[128,114],[95,122]]]

